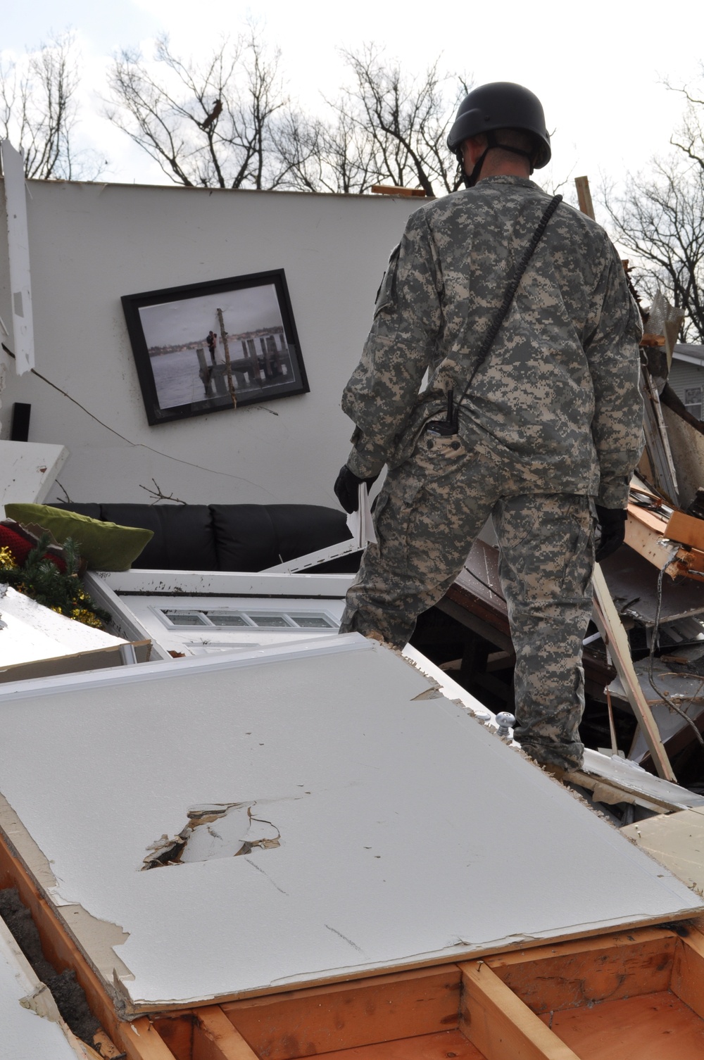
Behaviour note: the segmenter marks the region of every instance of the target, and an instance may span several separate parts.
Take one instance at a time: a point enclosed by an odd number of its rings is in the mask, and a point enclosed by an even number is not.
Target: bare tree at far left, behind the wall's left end
[[[80,56],[65,33],[0,67],[0,134],[24,152],[24,175],[37,179],[95,179],[102,159],[76,151]]]

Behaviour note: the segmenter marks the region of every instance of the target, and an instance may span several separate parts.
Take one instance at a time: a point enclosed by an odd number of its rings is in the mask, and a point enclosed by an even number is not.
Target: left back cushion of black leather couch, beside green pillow
[[[154,531],[135,567],[217,570],[207,505],[101,505],[104,519]]]

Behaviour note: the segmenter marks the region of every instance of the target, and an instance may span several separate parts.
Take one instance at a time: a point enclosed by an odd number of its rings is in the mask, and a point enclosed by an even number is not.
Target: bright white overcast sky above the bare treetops
[[[320,93],[336,95],[345,81],[339,49],[365,41],[385,47],[411,74],[442,55],[448,72],[475,84],[525,84],[542,99],[555,129],[552,182],[586,174],[593,189],[601,175],[618,180],[667,151],[682,99],[662,82],[691,83],[700,74],[704,41],[701,0],[683,0],[673,8],[652,0],[557,5],[33,0],[5,6],[2,42],[6,57],[36,46],[52,30],[75,29],[86,61],[83,136],[109,159],[107,179],[168,183],[156,163],[100,117],[109,58],[124,47],[149,54],[163,31],[176,49],[205,58],[218,34],[235,35],[247,17],[259,19],[266,39],[281,48],[288,91],[311,110],[321,111]]]

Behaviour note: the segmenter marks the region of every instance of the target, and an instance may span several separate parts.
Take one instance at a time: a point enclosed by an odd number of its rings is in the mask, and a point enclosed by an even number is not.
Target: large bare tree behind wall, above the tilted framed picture
[[[223,39],[205,61],[179,58],[162,36],[156,68],[135,52],[115,60],[107,117],[176,183],[280,188],[287,164],[276,140],[288,101],[278,64],[254,30]]]

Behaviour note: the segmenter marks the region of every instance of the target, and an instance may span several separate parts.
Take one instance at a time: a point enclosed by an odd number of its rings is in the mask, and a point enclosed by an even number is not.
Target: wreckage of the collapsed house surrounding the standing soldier
[[[704,453],[667,304],[567,788],[512,740],[490,528],[403,654],[337,636],[368,534],[337,398],[412,199],[4,172],[0,1056],[701,1056]]]

